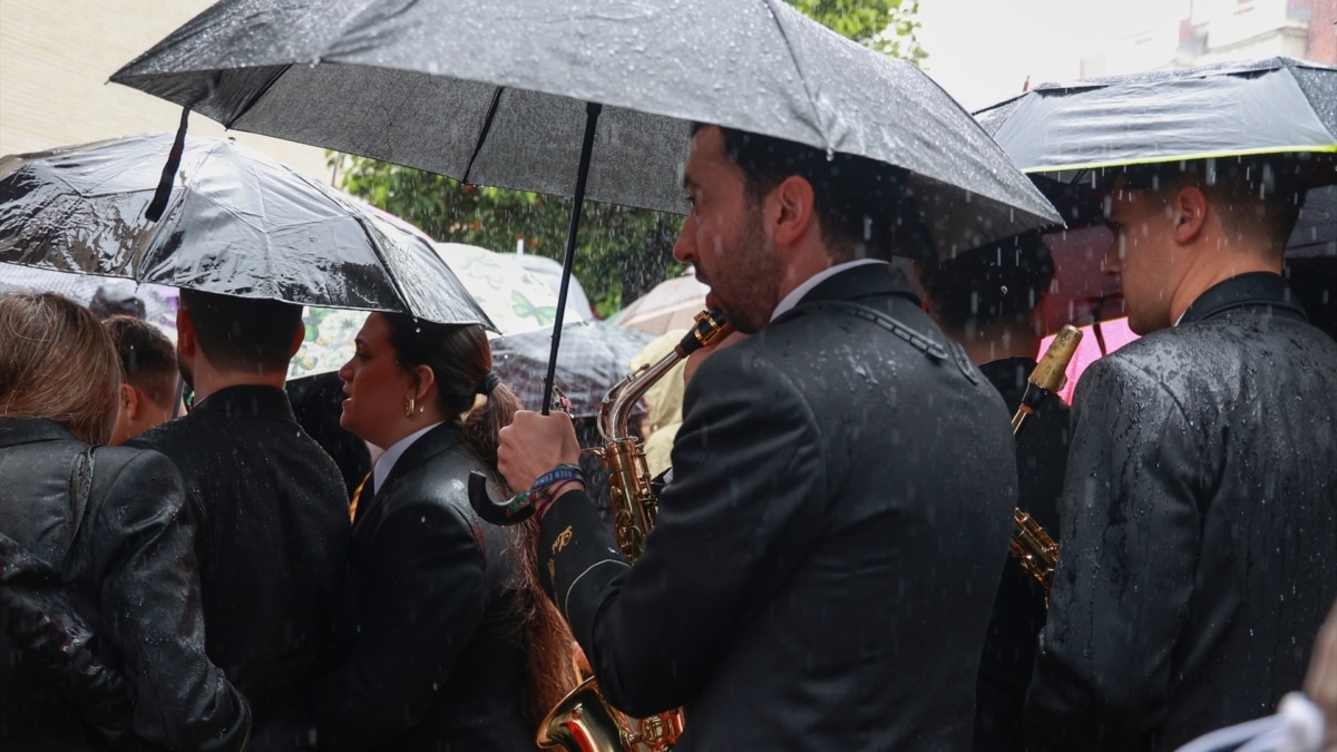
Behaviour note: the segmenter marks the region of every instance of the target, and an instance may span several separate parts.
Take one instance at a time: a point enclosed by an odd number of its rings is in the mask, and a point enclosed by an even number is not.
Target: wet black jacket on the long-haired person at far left
[[[134,733],[166,749],[243,748],[250,709],[205,657],[195,526],[180,475],[156,452],[99,447],[66,559],[71,466],[84,448],[53,421],[0,417],[0,533],[63,569],[102,634],[102,658],[132,686]],[[103,748],[53,678],[0,633],[0,747]]]

